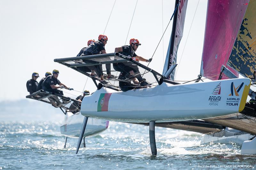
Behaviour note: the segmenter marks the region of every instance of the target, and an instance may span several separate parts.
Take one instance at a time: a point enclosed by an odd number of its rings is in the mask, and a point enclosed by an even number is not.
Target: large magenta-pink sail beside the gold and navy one
[[[248,2],[249,0],[208,1],[200,70],[202,76],[217,80],[222,65],[227,66]],[[238,77],[235,70],[227,68]]]

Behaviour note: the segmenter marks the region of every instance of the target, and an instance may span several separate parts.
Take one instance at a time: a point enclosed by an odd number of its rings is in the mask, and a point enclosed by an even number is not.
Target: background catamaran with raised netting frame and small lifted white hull
[[[60,126],[60,133],[66,137],[64,148],[66,148],[68,137],[79,137],[82,120],[84,118],[80,113],[81,101],[60,94],[53,94],[52,92],[44,90],[34,92],[26,96],[26,98],[52,104],[52,106],[60,108],[60,110],[65,114],[63,125]],[[84,147],[85,137],[104,131],[108,128],[108,124],[109,121],[90,118],[88,120],[89,127],[83,135]]]

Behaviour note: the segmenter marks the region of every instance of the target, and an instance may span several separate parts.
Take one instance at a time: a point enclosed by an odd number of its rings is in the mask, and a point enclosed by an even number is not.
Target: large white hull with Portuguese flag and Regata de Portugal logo
[[[118,122],[172,122],[211,118],[242,111],[249,78],[172,85],[127,92],[101,88],[85,96],[81,113]],[[233,89],[241,85],[240,89]],[[216,87],[221,87],[216,94]],[[233,91],[232,91],[233,90]],[[230,94],[231,95],[230,96]],[[235,93],[236,92],[236,93]],[[102,95],[104,99],[102,98]]]

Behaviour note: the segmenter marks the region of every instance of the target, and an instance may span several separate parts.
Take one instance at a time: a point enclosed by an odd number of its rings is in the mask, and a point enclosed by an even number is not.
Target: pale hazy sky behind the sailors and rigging
[[[46,71],[60,71],[60,81],[68,87],[82,91],[86,76],[59,63],[55,58],[74,57],[89,39],[97,39],[104,32],[113,1],[0,1],[0,100],[24,99],[28,95],[26,82],[32,72],[40,78]],[[162,2],[164,22],[162,23]],[[188,1],[184,35],[178,51],[179,70],[176,80],[192,80],[200,73],[207,1]],[[105,34],[107,53],[125,43],[136,1],[117,0],[109,19]],[[142,44],[137,55],[150,58],[167,26],[173,10],[174,0],[139,0],[128,40],[139,39]],[[196,14],[195,14],[196,11]],[[195,19],[192,23],[193,16]],[[188,35],[189,28],[191,31]],[[172,22],[164,35],[149,67],[162,73],[167,52]],[[185,42],[187,40],[185,46]],[[184,48],[185,46],[185,48]],[[182,51],[182,60],[180,61]],[[86,88],[96,90],[91,79]],[[78,95],[78,92],[65,91]],[[74,97],[66,93],[67,96]]]

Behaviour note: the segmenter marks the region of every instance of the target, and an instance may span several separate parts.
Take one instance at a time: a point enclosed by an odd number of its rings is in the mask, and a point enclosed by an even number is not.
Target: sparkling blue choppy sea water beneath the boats
[[[78,138],[60,133],[61,122],[1,122],[0,169],[254,169],[255,155],[239,144],[200,145],[196,132],[156,127],[151,156],[148,126],[110,122],[100,134]],[[81,144],[83,145],[83,144]]]

